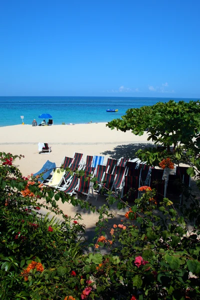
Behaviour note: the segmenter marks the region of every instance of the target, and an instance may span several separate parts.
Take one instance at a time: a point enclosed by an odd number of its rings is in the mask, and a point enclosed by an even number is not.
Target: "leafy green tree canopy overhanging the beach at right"
[[[121,119],[114,119],[106,124],[117,130],[132,130],[136,135],[148,133],[148,140],[164,146],[192,143],[200,131],[199,101],[158,102],[152,106],[129,108]],[[196,144],[200,144],[199,139]]]

